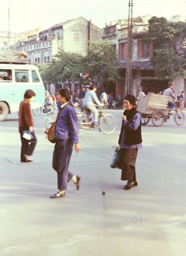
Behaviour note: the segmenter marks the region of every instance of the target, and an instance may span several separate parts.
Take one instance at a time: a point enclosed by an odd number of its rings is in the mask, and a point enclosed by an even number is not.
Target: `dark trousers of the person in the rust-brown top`
[[[30,141],[23,138],[23,131],[29,131],[29,128],[19,126],[19,133],[20,133],[20,137],[21,137],[21,157],[20,157],[21,159],[25,159],[24,155],[31,156],[33,154],[35,145],[37,143],[37,139],[36,139],[34,131],[31,132],[33,138]]]

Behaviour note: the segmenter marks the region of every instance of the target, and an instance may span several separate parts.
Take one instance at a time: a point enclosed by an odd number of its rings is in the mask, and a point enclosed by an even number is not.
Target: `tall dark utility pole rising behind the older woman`
[[[132,29],[133,29],[133,0],[128,3],[128,38],[125,94],[132,93]]]

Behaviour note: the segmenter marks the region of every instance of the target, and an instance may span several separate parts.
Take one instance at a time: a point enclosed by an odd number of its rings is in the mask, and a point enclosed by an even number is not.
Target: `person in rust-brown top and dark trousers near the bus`
[[[34,151],[37,139],[33,131],[33,118],[30,109],[30,102],[33,101],[35,92],[26,90],[24,100],[19,105],[19,133],[21,136],[21,162],[32,162],[31,155]],[[23,138],[23,131],[30,131],[33,138],[27,140]]]

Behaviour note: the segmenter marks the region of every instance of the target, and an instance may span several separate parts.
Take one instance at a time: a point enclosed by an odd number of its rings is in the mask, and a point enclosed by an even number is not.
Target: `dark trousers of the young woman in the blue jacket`
[[[58,173],[58,189],[60,190],[67,190],[67,182],[73,176],[73,173],[69,172],[72,149],[73,143],[71,140],[56,140],[52,167]]]

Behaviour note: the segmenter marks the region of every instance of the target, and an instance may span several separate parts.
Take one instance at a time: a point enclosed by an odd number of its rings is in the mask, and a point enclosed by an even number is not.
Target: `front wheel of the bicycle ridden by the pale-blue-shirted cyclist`
[[[111,134],[115,131],[117,126],[117,121],[114,115],[106,114],[102,115],[99,120],[99,129],[104,134]]]

